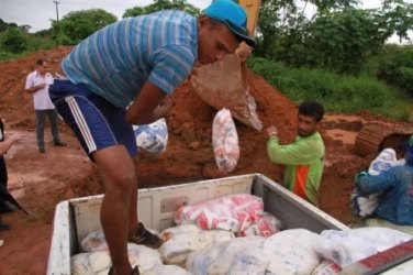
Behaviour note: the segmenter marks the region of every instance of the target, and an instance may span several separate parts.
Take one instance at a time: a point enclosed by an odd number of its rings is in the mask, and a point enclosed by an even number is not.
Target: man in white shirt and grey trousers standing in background
[[[57,111],[48,96],[48,86],[53,84],[53,76],[47,72],[47,61],[38,59],[36,68],[26,77],[25,91],[33,95],[34,110],[36,111],[36,138],[38,152],[45,153],[44,123],[46,116],[51,121],[53,143],[55,146],[66,146],[59,138]]]

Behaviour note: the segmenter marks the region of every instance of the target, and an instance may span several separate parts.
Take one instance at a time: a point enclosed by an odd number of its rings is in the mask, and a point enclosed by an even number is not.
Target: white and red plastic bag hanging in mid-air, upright
[[[232,172],[239,158],[238,134],[227,109],[220,110],[212,124],[215,163],[222,173]]]

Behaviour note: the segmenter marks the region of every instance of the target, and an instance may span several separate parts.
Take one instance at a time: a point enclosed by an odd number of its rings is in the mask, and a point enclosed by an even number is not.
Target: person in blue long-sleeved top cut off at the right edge
[[[367,224],[389,226],[413,234],[413,135],[400,147],[406,152],[405,165],[391,167],[378,176],[361,172],[356,176],[356,187],[362,195],[382,193],[373,217],[386,222],[367,220]]]

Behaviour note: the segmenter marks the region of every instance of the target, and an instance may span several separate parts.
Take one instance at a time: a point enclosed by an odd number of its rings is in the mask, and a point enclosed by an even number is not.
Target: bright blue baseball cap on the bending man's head
[[[255,41],[248,35],[247,13],[234,0],[214,0],[203,13],[216,21],[223,22],[241,41],[254,47]]]

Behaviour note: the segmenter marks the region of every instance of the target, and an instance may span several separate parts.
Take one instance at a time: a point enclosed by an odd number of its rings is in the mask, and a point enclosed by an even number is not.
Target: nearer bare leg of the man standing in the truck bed
[[[126,148],[115,145],[92,154],[105,183],[100,219],[114,274],[131,274],[127,258],[131,196],[136,190],[134,163]],[[135,202],[136,204],[136,202]],[[135,205],[136,207],[136,205]]]

